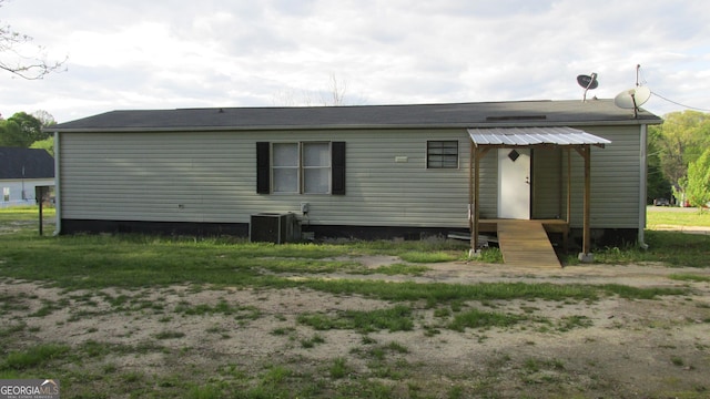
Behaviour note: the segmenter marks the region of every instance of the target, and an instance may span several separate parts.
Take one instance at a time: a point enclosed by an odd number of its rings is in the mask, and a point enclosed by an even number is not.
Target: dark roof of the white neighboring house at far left
[[[47,151],[0,147],[0,180],[53,177],[54,158]]]

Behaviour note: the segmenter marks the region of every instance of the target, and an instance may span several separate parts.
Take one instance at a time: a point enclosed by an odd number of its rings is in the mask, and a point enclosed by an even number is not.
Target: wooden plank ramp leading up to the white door
[[[497,225],[498,245],[506,265],[561,267],[542,222],[498,219]]]

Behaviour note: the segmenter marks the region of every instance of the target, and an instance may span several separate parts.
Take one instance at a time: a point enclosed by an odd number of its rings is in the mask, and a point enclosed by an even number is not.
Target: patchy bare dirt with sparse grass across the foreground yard
[[[400,262],[359,260],[371,267]],[[300,288],[184,285],[68,293],[6,279],[0,283],[3,328],[24,326],[14,342],[18,348],[59,342],[81,351],[99,344],[108,348],[104,354],[83,356],[75,367],[94,376],[115,375],[120,381],[133,376],[138,386],[155,391],[179,386],[170,382],[175,376],[195,378],[201,381],[196,386],[242,383],[253,390],[268,378],[276,379],[274,370],[282,370],[281,381],[291,385],[294,397],[304,391],[316,397],[358,396],[372,393],[373,386],[387,392],[383,397],[413,398],[710,397],[710,270],[662,265],[546,270],[467,263],[429,267],[419,276],[291,277],[457,285],[615,284],[686,291],[653,299],[416,301],[406,304],[410,329],[363,331],[317,329],[303,317],[386,310],[398,304]],[[671,275],[694,278],[677,280]],[[452,327],[457,315],[470,310],[507,315],[515,323]],[[65,377],[65,386],[73,391],[65,390],[62,397],[79,396],[79,383],[71,378]],[[94,378],[82,381],[81,389],[101,391],[105,383]]]

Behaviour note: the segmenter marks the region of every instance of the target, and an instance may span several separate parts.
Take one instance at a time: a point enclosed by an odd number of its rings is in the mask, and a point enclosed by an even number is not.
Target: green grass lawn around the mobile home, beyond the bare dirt
[[[45,221],[54,209],[47,208]],[[195,284],[265,284],[283,273],[349,273],[419,275],[427,263],[467,258],[468,245],[456,241],[353,242],[347,244],[250,243],[243,238],[195,238],[151,235],[37,234],[37,207],[0,209],[2,275],[26,279],[49,279],[68,288]],[[710,214],[672,212],[660,208],[648,213],[649,226],[658,224],[701,225]],[[45,232],[49,228],[45,228]],[[635,245],[597,248],[597,263],[629,264],[662,262],[669,266],[708,267],[710,235],[678,232],[646,233],[648,250]],[[378,269],[364,267],[359,255],[398,256],[403,263]],[[497,248],[487,250],[483,262],[499,262]],[[337,260],[335,260],[337,258]],[[352,260],[351,260],[352,258]],[[272,277],[267,277],[272,275]],[[271,284],[271,283],[270,283]]]

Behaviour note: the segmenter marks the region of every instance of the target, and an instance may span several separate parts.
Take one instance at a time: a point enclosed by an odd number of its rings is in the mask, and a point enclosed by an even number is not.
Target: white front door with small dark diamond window
[[[530,150],[498,150],[498,217],[530,218]]]

